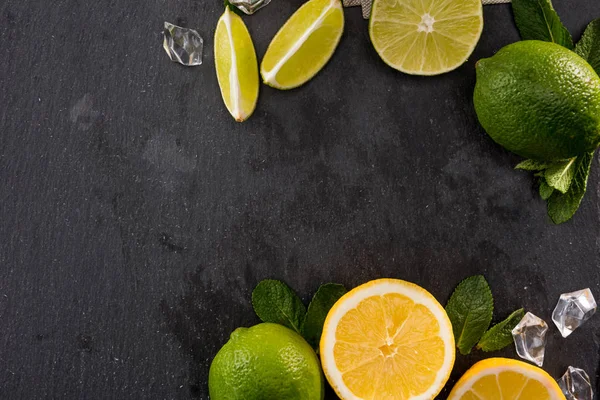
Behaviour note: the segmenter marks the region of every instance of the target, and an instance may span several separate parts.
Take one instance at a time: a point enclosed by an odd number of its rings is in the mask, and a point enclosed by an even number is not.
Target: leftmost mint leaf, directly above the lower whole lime
[[[252,291],[252,307],[263,322],[274,322],[300,333],[306,307],[285,283],[273,279],[261,281]]]

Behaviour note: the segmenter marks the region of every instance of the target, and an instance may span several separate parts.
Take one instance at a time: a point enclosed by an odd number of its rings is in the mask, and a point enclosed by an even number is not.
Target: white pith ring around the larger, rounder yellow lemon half
[[[363,400],[350,391],[344,384],[342,373],[335,365],[333,348],[336,343],[335,333],[341,318],[350,310],[356,308],[364,299],[372,296],[382,296],[389,293],[399,293],[409,297],[416,305],[421,304],[431,311],[440,324],[440,338],[444,342],[444,361],[442,367],[437,373],[436,379],[431,387],[424,393],[413,396],[411,400],[431,400],[439,393],[446,382],[446,379],[452,369],[454,361],[454,340],[452,337],[452,326],[440,304],[427,292],[418,287],[412,287],[410,284],[397,283],[393,281],[381,282],[357,291],[351,291],[344,296],[344,301],[332,311],[327,317],[325,329],[323,331],[322,357],[323,369],[329,378],[330,383],[345,400]]]

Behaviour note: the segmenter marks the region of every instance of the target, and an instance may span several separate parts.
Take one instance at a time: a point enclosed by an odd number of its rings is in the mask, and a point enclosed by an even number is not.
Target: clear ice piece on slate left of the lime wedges
[[[204,41],[198,32],[165,21],[163,34],[163,47],[171,61],[188,67],[202,64]]]

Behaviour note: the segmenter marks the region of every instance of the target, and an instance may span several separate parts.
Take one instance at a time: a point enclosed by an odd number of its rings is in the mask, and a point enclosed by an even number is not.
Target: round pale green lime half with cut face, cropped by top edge
[[[437,75],[463,64],[483,30],[481,0],[375,0],[371,42],[389,66]]]

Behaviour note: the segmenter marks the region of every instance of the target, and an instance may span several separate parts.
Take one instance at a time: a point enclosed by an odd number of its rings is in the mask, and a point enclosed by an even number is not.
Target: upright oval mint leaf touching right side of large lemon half
[[[462,281],[448,300],[446,312],[456,347],[461,354],[469,354],[490,326],[494,312],[494,299],[485,278],[475,275]]]

